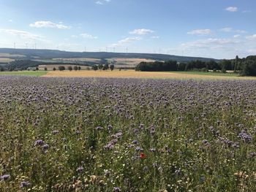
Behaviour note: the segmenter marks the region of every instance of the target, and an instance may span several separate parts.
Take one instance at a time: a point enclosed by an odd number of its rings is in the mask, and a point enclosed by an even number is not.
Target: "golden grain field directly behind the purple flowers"
[[[154,78],[154,79],[202,79],[202,80],[256,80],[255,77],[228,77],[203,74],[181,74],[175,72],[135,72],[134,70],[114,71],[50,71],[43,77],[106,77],[106,78]]]

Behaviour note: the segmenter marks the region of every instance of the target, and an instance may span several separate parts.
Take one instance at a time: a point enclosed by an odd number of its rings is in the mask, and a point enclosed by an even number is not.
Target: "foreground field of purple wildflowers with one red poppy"
[[[0,191],[256,191],[256,81],[0,86]]]

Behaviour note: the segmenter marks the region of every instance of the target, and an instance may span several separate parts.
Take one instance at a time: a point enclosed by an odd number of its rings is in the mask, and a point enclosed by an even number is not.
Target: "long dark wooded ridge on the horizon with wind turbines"
[[[1,56],[1,53],[5,56]],[[214,58],[200,58],[200,57],[186,57],[166,54],[151,54],[151,53],[110,53],[110,52],[68,52],[61,50],[31,50],[31,49],[10,49],[0,48],[0,57],[7,57],[12,59],[52,59],[52,58],[146,58],[157,61],[175,60],[178,62],[187,62],[192,60],[200,61],[218,61]]]

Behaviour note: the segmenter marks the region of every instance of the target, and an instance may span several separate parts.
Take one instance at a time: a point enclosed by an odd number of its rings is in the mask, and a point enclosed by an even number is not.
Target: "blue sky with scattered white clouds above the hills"
[[[0,47],[256,55],[255,0],[0,0]]]

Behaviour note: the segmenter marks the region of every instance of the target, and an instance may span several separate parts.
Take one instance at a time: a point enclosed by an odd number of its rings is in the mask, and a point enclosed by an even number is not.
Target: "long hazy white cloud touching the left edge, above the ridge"
[[[20,39],[45,41],[43,36],[32,34],[29,31],[19,31],[15,29],[0,29],[0,32],[1,31],[6,34],[11,34],[13,36],[20,37]]]

